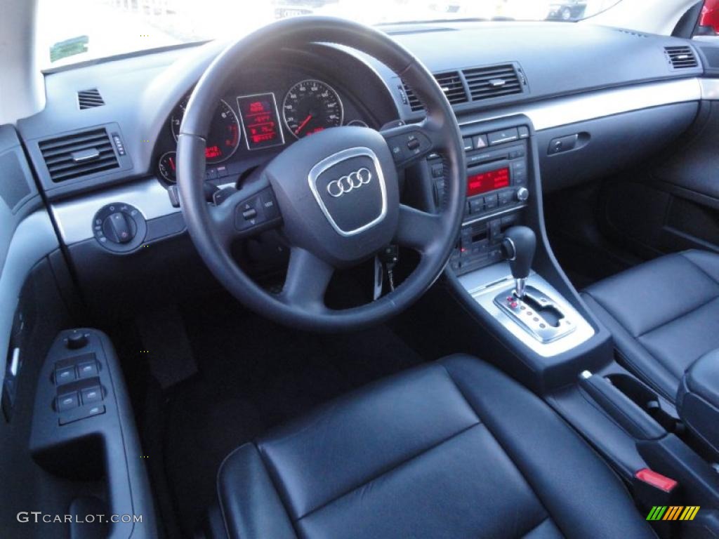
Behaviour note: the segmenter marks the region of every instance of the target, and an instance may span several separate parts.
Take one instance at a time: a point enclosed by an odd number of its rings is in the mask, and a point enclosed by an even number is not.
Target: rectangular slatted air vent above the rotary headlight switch
[[[105,129],[47,139],[38,145],[50,179],[55,183],[119,167]]]

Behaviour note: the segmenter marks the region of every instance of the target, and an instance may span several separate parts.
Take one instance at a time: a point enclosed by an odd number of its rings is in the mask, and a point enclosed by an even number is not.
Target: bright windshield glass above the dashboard
[[[365,24],[451,19],[557,20],[592,17],[619,0],[38,0],[42,68],[101,57],[237,38],[303,14]]]

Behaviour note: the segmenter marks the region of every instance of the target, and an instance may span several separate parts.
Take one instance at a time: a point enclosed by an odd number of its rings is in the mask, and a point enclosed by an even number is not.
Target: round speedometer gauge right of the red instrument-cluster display
[[[342,101],[329,84],[302,80],[290,88],[282,106],[285,126],[295,137],[342,125]]]

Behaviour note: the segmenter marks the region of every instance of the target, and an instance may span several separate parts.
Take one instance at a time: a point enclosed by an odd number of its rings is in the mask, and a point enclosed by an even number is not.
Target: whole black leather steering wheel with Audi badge
[[[254,181],[217,205],[206,201],[205,139],[238,66],[288,45],[346,45],[384,63],[426,109],[418,124],[382,132],[340,126],[293,143]],[[279,128],[279,126],[278,126]],[[427,213],[400,203],[398,170],[431,152],[444,159],[446,203]],[[296,17],[263,27],[216,57],[191,95],[177,147],[178,189],[190,236],[215,277],[255,312],[314,331],[356,330],[385,321],[418,299],[444,270],[465,203],[464,146],[444,93],[416,57],[387,34],[333,17]],[[230,246],[272,227],[290,245],[282,292],[267,292],[234,262]],[[335,270],[370,259],[389,244],[415,249],[416,269],[372,303],[333,310],[324,302]]]

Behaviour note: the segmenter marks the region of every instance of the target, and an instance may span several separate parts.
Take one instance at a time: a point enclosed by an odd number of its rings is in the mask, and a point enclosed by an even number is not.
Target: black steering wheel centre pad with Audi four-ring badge
[[[336,127],[301,139],[265,174],[290,241],[336,267],[369,257],[395,234],[397,172],[385,139],[372,129]]]

